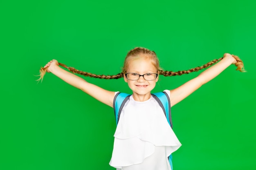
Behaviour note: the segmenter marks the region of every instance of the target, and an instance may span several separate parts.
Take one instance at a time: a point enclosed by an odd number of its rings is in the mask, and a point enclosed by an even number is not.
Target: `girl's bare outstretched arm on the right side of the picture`
[[[181,86],[170,90],[171,106],[174,106],[175,104],[182,101],[184,98],[200,88],[203,84],[209,82],[211,79],[219,75],[228,66],[235,63],[236,59],[232,55],[225,53],[223,59],[220,60],[220,62],[203,71],[194,79],[191,79],[185,84],[182,84]]]

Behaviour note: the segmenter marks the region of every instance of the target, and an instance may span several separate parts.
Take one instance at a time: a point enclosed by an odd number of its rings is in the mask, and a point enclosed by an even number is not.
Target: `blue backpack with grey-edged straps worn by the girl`
[[[171,104],[170,104],[170,99],[169,96],[166,92],[158,92],[158,93],[153,93],[151,94],[158,104],[161,106],[161,108],[164,110],[164,115],[171,126],[173,128],[173,123],[171,120]],[[115,97],[114,97],[114,102],[113,102],[113,108],[114,108],[114,113],[115,113],[115,118],[116,118],[116,123],[118,124],[121,111],[124,107],[124,104],[127,102],[129,99],[130,95],[127,93],[120,93],[118,92]],[[172,163],[172,155],[168,157],[170,165],[171,165],[171,170],[173,170],[173,163]]]

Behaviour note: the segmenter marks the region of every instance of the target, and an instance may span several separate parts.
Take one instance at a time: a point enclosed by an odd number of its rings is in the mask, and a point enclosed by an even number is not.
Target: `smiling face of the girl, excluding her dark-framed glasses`
[[[144,75],[146,73],[157,73],[157,68],[155,68],[150,59],[142,58],[130,61],[126,73],[137,73],[139,75]],[[140,76],[137,80],[129,80],[124,75],[124,80],[128,83],[129,88],[132,90],[133,97],[140,96],[140,98],[146,97],[149,99],[151,96],[150,92],[153,90],[153,88],[155,88],[155,84],[158,81],[158,76],[155,80],[145,80],[143,76]]]

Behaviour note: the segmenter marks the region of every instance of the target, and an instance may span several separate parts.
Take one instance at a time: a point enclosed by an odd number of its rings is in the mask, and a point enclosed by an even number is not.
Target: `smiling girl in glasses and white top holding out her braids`
[[[68,68],[64,64],[58,63],[57,60],[51,60],[44,68],[41,68],[38,80],[42,80],[46,72],[53,73],[68,84],[113,107],[113,99],[117,92],[108,91],[86,82],[73,73],[105,79],[124,77],[124,81],[132,90],[132,95],[122,109],[119,118],[114,135],[115,141],[110,166],[117,170],[171,170],[168,157],[181,144],[166,121],[166,117],[162,113],[163,110],[152,97],[151,91],[158,81],[159,74],[182,75],[206,68],[219,61],[185,84],[173,90],[165,90],[170,98],[171,106],[174,106],[219,75],[229,65],[236,64],[237,70],[244,71],[243,62],[235,55],[225,53],[219,60],[213,60],[202,67],[189,71],[173,73],[162,71],[159,68],[159,60],[154,51],[136,47],[128,52],[123,70],[118,75],[94,75],[78,71],[75,68]],[[59,65],[68,68],[73,73],[65,71]]]

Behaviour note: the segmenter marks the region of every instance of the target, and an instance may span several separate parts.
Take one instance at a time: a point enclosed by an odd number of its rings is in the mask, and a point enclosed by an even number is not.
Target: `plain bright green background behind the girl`
[[[56,59],[96,74],[117,74],[126,53],[143,46],[169,71],[238,55],[172,108],[182,146],[174,170],[255,170],[256,2],[254,0],[35,0],[0,2],[0,169],[114,170],[112,108],[47,73]],[[160,76],[153,92],[197,76]],[[123,79],[88,82],[130,93]]]

